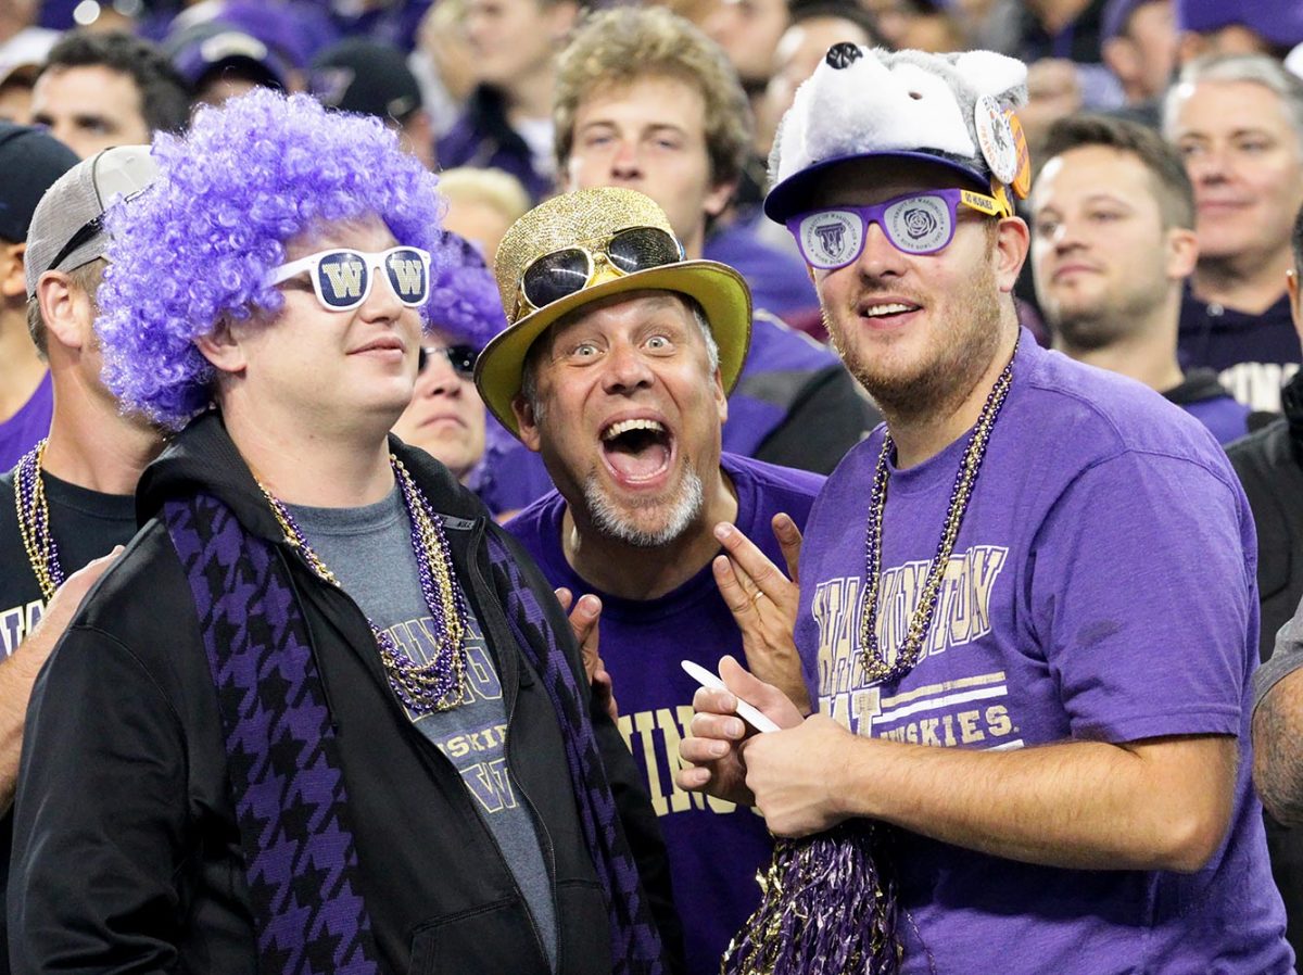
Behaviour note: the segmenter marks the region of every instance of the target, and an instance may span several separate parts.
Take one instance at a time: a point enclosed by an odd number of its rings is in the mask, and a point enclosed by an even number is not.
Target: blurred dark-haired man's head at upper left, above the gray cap
[[[180,132],[190,93],[163,52],[129,34],[74,31],[53,46],[31,93],[33,121],[83,159]]]

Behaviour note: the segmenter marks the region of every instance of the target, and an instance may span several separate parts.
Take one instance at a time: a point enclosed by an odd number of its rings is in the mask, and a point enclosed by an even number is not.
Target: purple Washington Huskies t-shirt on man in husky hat
[[[902,830],[904,970],[928,972],[930,953],[938,972],[1293,971],[1250,782],[1253,523],[1212,434],[1024,332],[924,656],[898,682],[872,684],[857,633],[882,435],[851,451],[805,528],[796,643],[823,713],[861,735],[977,749],[1239,739],[1231,826],[1196,873],[1032,866]],[[889,653],[967,441],[891,471],[878,615]]]

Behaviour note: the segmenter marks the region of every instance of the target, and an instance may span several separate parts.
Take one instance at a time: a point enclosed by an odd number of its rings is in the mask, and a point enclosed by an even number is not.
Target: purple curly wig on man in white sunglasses
[[[259,89],[201,109],[184,137],[159,134],[152,156],[158,181],[108,215],[96,328],[108,388],[167,428],[210,401],[215,370],[194,339],[223,317],[279,313],[267,278],[314,226],[375,214],[431,253],[433,283],[452,271],[437,179],[378,119]],[[435,296],[448,302],[431,292],[427,321]]]

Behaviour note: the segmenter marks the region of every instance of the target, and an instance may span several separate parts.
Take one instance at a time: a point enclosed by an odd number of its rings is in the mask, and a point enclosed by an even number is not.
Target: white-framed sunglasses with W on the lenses
[[[377,267],[383,270],[382,275],[374,274]],[[421,248],[318,250],[275,269],[268,284],[281,284],[304,272],[311,279],[317,300],[330,312],[358,308],[371,293],[377,276],[383,276],[408,308],[420,308],[430,297],[430,252]]]

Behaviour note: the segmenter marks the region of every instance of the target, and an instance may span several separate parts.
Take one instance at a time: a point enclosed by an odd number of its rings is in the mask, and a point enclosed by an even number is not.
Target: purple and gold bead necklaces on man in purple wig
[[[430,502],[396,456],[390,455],[394,476],[403,493],[412,525],[412,551],[416,554],[417,574],[425,605],[434,619],[437,648],[427,662],[417,662],[370,617],[366,618],[380,650],[380,662],[390,687],[397,699],[417,714],[450,710],[465,699],[466,688],[466,604],[457,584],[452,564],[452,550],[443,533],[443,523],[433,514]],[[259,481],[263,497],[285,534],[285,541],[297,547],[324,583],[343,590],[339,579],[308,544],[302,529],[289,508]]]

